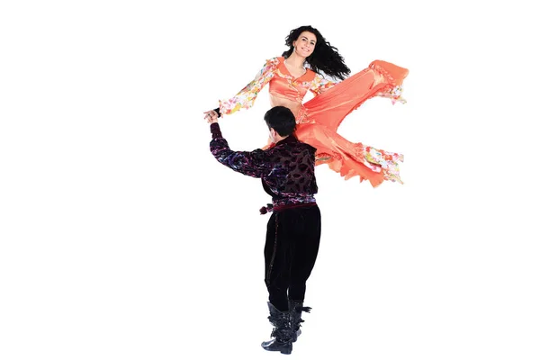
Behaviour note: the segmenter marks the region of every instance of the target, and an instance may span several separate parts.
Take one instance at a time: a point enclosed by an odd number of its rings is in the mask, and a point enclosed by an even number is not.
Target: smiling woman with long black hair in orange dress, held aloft
[[[297,122],[295,136],[317,148],[316,165],[328,164],[331,169],[349,179],[358,175],[376,187],[383,181],[401,182],[399,153],[353,143],[338,134],[338,126],[348,113],[374,96],[401,98],[401,84],[409,70],[392,63],[374,60],[353,76],[338,49],[330,45],[312,26],[301,26],[285,38],[289,47],[281,57],[266,60],[255,79],[229,100],[220,101],[217,109],[205,116],[229,115],[248,109],[257,94],[269,84],[271,106],[286,106]],[[338,79],[330,81],[326,76]],[[348,76],[348,77],[347,77]],[[340,81],[341,80],[341,81]],[[302,103],[311,91],[314,97]],[[269,143],[265,148],[272,147]]]

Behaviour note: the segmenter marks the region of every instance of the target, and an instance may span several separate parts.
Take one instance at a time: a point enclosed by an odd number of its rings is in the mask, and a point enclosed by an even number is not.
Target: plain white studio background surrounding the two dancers
[[[353,7],[352,4],[355,4]],[[323,230],[293,358],[538,359],[536,16],[525,2],[0,5],[0,358],[262,359],[259,180],[202,112],[304,24],[353,73],[410,69],[339,133],[405,154],[374,189],[318,166]],[[307,98],[306,98],[307,100]],[[266,144],[267,88],[225,117]]]

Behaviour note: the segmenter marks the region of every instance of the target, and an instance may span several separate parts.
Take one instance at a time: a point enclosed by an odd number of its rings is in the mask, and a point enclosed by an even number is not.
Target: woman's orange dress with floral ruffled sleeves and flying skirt
[[[220,101],[220,112],[231,114],[253,106],[257,94],[269,84],[272,106],[289,107],[296,117],[296,137],[317,148],[316,165],[328,164],[346,180],[358,175],[361,182],[368,180],[374,187],[383,181],[403,184],[398,166],[403,155],[350,142],[337,130],[348,113],[374,96],[405,103],[401,84],[408,74],[406,68],[375,60],[364,70],[335,83],[309,68],[302,76],[294,77],[285,67],[283,57],[271,58],[238,94]],[[302,103],[308,91],[314,97]]]

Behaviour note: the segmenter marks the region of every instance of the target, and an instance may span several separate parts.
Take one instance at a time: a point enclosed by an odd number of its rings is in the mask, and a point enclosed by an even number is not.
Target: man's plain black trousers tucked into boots
[[[266,229],[265,283],[277,310],[287,311],[289,299],[304,300],[319,244],[319,206],[272,213]]]

